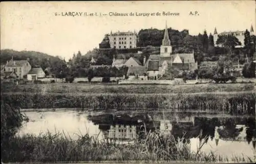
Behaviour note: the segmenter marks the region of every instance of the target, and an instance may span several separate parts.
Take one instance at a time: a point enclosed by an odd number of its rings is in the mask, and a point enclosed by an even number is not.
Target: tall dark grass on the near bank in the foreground
[[[252,161],[246,156],[217,155],[214,152],[203,153],[202,146],[196,152],[190,150],[189,143],[184,138],[175,139],[173,135],[159,135],[148,132],[142,140],[135,144],[119,145],[106,140],[99,141],[89,134],[72,140],[68,135],[41,134],[39,136],[27,134],[14,136],[2,149],[4,162],[60,162],[60,161],[108,161],[108,160],[144,160],[144,161]]]

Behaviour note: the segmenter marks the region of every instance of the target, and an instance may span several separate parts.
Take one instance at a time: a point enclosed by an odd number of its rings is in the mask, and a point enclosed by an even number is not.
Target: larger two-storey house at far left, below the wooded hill
[[[31,70],[29,59],[27,60],[10,60],[6,62],[5,71],[14,72],[18,79],[23,79]]]

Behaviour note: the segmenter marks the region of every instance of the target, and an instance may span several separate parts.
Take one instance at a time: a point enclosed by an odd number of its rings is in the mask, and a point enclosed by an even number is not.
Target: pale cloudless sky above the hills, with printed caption
[[[1,2],[1,49],[40,51],[68,60],[78,50],[85,54],[99,47],[111,31],[162,30],[166,21],[168,28],[187,29],[190,35],[213,33],[215,27],[218,33],[249,30],[251,25],[255,32],[255,7],[255,1]],[[66,12],[82,16],[66,16]],[[84,16],[85,12],[94,16]],[[135,15],[111,16],[110,12]],[[136,16],[136,12],[150,16]],[[157,12],[161,15],[151,15]]]

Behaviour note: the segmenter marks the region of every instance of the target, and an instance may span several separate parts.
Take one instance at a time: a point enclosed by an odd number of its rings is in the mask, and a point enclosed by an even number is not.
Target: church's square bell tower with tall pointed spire
[[[170,57],[171,53],[172,53],[172,46],[170,45],[170,39],[168,35],[167,22],[166,22],[163,41],[160,47],[160,57]]]

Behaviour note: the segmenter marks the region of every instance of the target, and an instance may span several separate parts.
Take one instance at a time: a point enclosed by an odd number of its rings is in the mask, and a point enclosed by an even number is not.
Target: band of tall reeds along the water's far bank
[[[256,93],[204,94],[41,94],[3,93],[5,103],[21,108],[88,108],[93,110],[200,110],[255,115]]]

